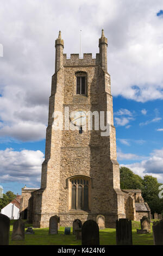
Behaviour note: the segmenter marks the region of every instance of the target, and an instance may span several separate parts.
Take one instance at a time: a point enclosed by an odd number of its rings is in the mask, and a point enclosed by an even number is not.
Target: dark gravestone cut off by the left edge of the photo
[[[0,245],[9,245],[10,219],[0,214]]]

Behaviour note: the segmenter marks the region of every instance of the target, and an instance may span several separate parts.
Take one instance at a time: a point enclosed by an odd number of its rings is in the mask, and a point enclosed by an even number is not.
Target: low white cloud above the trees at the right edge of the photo
[[[146,160],[122,165],[130,168],[135,174],[142,177],[145,175],[152,175],[158,178],[160,182],[163,182],[163,148],[153,150]]]

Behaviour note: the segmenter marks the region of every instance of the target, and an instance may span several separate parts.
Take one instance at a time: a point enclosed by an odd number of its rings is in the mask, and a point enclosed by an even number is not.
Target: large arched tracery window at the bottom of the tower
[[[78,177],[71,179],[71,209],[89,210],[89,180]]]

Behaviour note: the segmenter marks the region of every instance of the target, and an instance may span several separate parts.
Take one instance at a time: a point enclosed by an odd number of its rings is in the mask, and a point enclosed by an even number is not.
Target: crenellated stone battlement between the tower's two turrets
[[[64,66],[74,65],[99,65],[99,53],[96,53],[96,58],[92,58],[92,53],[84,53],[82,59],[78,53],[72,53],[71,58],[67,58],[67,54],[64,53]]]

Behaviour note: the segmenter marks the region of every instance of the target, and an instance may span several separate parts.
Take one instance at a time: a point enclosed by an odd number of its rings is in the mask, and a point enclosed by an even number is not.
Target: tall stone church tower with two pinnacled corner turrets
[[[124,196],[120,190],[120,172],[116,160],[116,134],[113,123],[110,75],[107,72],[108,40],[99,39],[99,53],[63,53],[64,41],[59,32],[55,40],[55,74],[49,97],[49,117],[46,132],[45,161],[42,163],[41,188],[33,192],[33,225],[48,227],[49,218],[60,217],[60,225],[72,226],[78,218],[82,222],[105,218],[105,227],[115,227],[118,218],[125,218]],[[68,109],[68,117],[67,117]],[[74,113],[69,116],[69,113]],[[85,113],[93,113],[94,120],[101,113],[109,117],[109,133],[101,127],[85,129],[81,123]],[[61,113],[63,129],[54,129],[54,121]],[[79,116],[81,114],[81,116]],[[80,120],[80,125],[77,123]],[[75,129],[69,129],[69,123]],[[97,122],[98,123],[98,122]],[[81,125],[82,124],[82,125]]]

